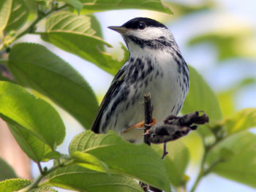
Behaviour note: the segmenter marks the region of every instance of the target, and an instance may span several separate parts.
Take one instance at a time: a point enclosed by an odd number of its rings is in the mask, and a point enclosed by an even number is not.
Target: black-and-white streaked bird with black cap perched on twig
[[[116,131],[140,144],[144,120],[143,96],[151,93],[157,125],[177,115],[189,91],[189,69],[170,30],[151,18],[133,18],[122,26],[109,26],[124,39],[129,58],[118,70],[99,106],[91,130]],[[155,125],[155,126],[157,126]]]

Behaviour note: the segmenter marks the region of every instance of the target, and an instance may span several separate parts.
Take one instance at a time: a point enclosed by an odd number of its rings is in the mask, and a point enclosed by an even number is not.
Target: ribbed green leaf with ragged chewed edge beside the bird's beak
[[[90,18],[84,15],[65,11],[56,12],[47,19],[45,32],[40,34],[46,42],[78,55],[111,74],[116,74],[126,59],[117,61],[104,52],[102,47],[108,43],[95,36],[95,31],[91,29]]]

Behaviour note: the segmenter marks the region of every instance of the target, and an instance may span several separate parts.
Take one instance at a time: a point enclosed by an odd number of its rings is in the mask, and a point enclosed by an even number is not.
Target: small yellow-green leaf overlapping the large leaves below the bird
[[[75,164],[85,167],[86,169],[91,169],[98,172],[109,173],[108,166],[100,161],[99,158],[91,155],[89,153],[83,153],[80,151],[75,151],[71,153],[71,157],[75,160]]]

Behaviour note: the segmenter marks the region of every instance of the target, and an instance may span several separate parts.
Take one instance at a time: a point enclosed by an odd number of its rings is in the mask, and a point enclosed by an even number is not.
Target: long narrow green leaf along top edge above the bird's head
[[[169,7],[165,7],[160,0],[81,0],[86,12],[106,11],[113,9],[148,9],[172,14]]]

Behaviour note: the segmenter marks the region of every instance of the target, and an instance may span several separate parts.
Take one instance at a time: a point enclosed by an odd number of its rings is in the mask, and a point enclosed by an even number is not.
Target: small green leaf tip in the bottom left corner
[[[29,186],[31,183],[31,180],[23,179],[4,180],[0,182],[0,192],[18,191],[26,186]]]

